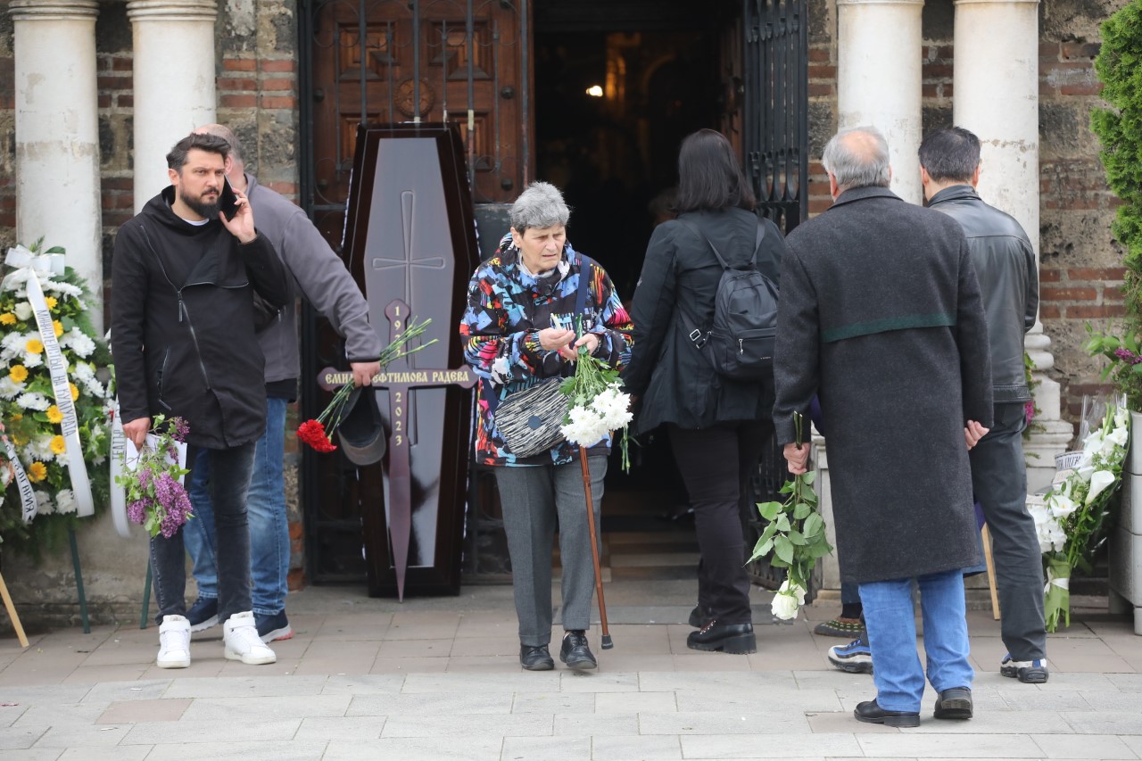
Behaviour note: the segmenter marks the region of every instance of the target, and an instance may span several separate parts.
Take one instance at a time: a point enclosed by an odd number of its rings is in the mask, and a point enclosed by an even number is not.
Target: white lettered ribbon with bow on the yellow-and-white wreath
[[[18,246],[8,249],[5,264],[21,267],[17,272],[5,278],[5,281],[16,275],[26,277],[27,301],[32,305],[35,327],[40,330],[45,363],[51,375],[51,393],[56,399],[59,414],[63,415],[59,427],[67,447],[67,474],[71,476],[72,492],[75,495],[75,514],[80,518],[94,515],[95,500],[91,498],[91,482],[87,475],[87,463],[83,462],[83,444],[79,439],[79,417],[75,415],[71,383],[67,380],[67,361],[59,350],[59,342],[56,341],[51,311],[48,309],[48,302],[43,296],[43,288],[40,286],[40,278],[37,274],[37,272],[42,272],[46,275],[63,274],[64,257],[59,254],[35,256],[29,249]]]

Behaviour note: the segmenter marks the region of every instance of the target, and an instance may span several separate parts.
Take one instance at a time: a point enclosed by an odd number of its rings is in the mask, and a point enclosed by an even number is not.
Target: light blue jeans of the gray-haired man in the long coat
[[[928,681],[938,692],[971,688],[975,672],[967,662],[963,570],[928,574],[916,580],[920,587]],[[861,584],[860,599],[872,652],[877,704],[885,711],[919,711],[924,668],[916,652],[911,579]]]

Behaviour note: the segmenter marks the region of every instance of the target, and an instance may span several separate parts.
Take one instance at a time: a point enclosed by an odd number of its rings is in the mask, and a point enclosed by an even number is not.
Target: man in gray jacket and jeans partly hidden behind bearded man
[[[345,264],[300,208],[246,173],[242,145],[223,125],[207,125],[209,133],[230,143],[226,177],[257,209],[258,231],[274,245],[286,264],[293,293],[305,296],[345,337],[355,385],[369,385],[380,371],[381,341],[369,325],[369,304]],[[256,310],[257,311],[257,310]],[[297,309],[291,302],[278,312],[262,314],[258,345],[265,354],[266,432],[258,441],[247,510],[250,522],[251,600],[258,635],[263,642],[286,640],[293,630],[286,616],[289,590],[290,537],[286,515],[283,474],[286,408],[297,399],[300,358],[297,346]],[[207,467],[194,468],[191,502],[198,520],[184,529],[186,550],[194,561],[199,598],[186,612],[191,631],[218,623],[218,571],[215,562],[212,508],[206,488]]]

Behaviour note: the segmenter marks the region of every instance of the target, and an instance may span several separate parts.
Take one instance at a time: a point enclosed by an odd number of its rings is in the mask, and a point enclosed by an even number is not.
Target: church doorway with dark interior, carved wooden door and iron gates
[[[457,126],[484,255],[526,183],[562,187],[570,240],[627,302],[669,207],[678,144],[695,129],[739,149],[763,213],[788,230],[805,208],[805,0],[303,0],[299,15],[301,199],[335,250],[362,121]],[[338,361],[336,334],[312,311],[303,349],[303,377]],[[322,400],[303,383],[305,417]],[[674,531],[692,545],[674,528],[685,518],[671,520],[686,497],[665,438],[632,457],[629,475],[611,463],[604,530]],[[759,472],[759,492],[779,479]],[[360,492],[340,458],[308,451],[301,481],[309,578],[361,578],[361,516],[384,496]],[[466,546],[471,574],[478,547]]]

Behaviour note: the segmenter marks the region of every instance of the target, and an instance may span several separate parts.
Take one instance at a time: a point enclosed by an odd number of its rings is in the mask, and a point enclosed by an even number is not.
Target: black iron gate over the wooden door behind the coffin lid
[[[473,200],[515,198],[529,176],[530,0],[301,0],[301,201],[340,253],[360,122],[455,122]],[[308,304],[303,378],[344,355]],[[319,412],[301,383],[301,412]],[[308,577],[365,577],[356,470],[340,455],[301,454]]]

